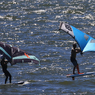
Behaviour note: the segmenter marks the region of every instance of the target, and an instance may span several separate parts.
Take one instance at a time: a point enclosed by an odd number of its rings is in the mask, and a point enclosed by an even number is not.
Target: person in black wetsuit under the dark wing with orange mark
[[[2,71],[4,72],[4,74],[6,76],[6,78],[5,78],[5,84],[6,84],[7,80],[8,80],[8,77],[9,77],[9,82],[11,83],[11,74],[7,70],[7,63],[8,63],[8,61],[5,61],[5,58],[3,58],[1,60]]]

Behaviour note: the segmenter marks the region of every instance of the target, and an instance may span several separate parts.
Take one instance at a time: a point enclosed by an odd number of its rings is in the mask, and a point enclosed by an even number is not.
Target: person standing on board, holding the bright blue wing
[[[71,62],[72,62],[73,65],[74,65],[73,74],[75,74],[75,69],[76,69],[76,68],[77,68],[78,74],[82,74],[82,73],[80,73],[80,71],[79,71],[79,65],[78,65],[77,60],[76,60],[76,54],[79,53],[79,52],[80,52],[81,55],[82,55],[81,49],[76,48],[76,44],[73,44],[73,48],[72,48],[72,50],[71,50],[71,57],[70,57],[70,60],[71,60]]]

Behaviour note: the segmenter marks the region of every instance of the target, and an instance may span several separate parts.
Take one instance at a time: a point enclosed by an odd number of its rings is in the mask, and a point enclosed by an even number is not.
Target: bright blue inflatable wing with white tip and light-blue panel
[[[83,33],[82,31],[64,22],[60,23],[59,30],[63,30],[71,35],[78,43],[82,52],[95,51],[95,39],[86,33]]]

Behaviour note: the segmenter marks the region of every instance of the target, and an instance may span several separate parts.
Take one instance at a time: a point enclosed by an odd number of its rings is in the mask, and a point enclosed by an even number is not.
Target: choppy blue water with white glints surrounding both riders
[[[12,82],[25,81],[24,85],[4,85],[0,69],[0,95],[94,95],[95,76],[74,81],[66,77],[72,73],[74,40],[58,30],[64,21],[95,38],[94,19],[94,0],[0,0],[0,41],[41,60],[41,66],[8,65]],[[78,54],[80,71],[94,71],[94,58],[94,52]]]

